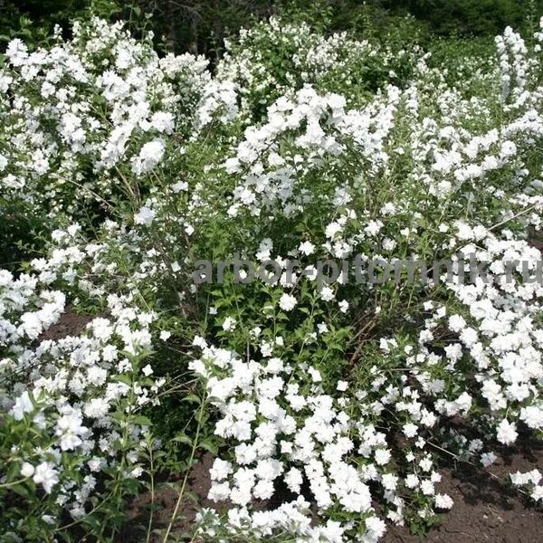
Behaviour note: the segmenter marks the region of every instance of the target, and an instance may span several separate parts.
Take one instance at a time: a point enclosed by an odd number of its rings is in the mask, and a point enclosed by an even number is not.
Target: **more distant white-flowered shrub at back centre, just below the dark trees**
[[[225,46],[216,78],[236,85],[244,115],[256,120],[274,100],[304,84],[344,92],[349,101],[360,102],[388,83],[404,82],[421,56],[417,47],[392,51],[347,33],[324,37],[308,24],[273,17],[242,30]]]

